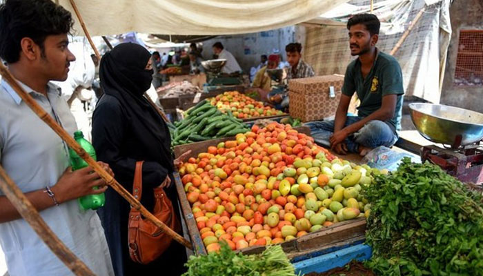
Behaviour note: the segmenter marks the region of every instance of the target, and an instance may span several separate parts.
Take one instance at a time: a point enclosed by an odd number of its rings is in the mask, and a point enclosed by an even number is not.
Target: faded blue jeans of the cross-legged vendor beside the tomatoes
[[[344,127],[362,120],[364,117],[348,116]],[[311,135],[315,142],[327,148],[331,147],[329,139],[334,133],[334,121],[311,121],[305,124],[311,128]],[[359,152],[359,145],[367,148],[378,146],[391,147],[399,137],[384,121],[369,121],[359,131],[353,133],[345,140],[349,152]]]

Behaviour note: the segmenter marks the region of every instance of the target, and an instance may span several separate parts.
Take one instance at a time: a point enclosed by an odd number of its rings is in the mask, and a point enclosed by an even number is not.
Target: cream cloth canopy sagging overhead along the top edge
[[[54,0],[73,12],[70,1]],[[92,36],[242,34],[313,19],[348,0],[74,0]],[[75,16],[75,15],[74,15]],[[79,20],[75,30],[83,34]]]

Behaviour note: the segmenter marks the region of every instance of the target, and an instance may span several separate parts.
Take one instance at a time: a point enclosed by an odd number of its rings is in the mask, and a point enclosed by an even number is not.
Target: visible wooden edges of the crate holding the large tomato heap
[[[310,128],[306,126],[300,126],[294,128],[298,132],[310,135]],[[219,139],[213,139],[208,141],[200,141],[193,144],[186,144],[175,146],[175,156],[178,157],[182,153],[191,150],[189,157],[196,157],[201,152],[206,152],[208,146],[216,146],[222,141],[233,140],[235,137],[225,137]],[[181,183],[181,178],[178,173],[175,173],[175,185],[177,188],[181,210],[188,227],[189,236],[195,253],[206,254],[206,248],[199,234],[196,220],[191,211],[190,204],[186,198],[186,192],[184,186]],[[344,244],[351,244],[354,242],[360,242],[365,239],[366,231],[366,219],[364,217],[352,219],[350,221],[342,221],[337,224],[333,224],[327,228],[323,228],[315,233],[308,233],[303,237],[293,239],[281,244],[284,251],[289,258],[301,257],[304,255],[310,255],[313,252],[331,248],[333,246],[342,246]],[[250,246],[239,250],[244,254],[256,254],[261,253],[265,249],[265,246]]]

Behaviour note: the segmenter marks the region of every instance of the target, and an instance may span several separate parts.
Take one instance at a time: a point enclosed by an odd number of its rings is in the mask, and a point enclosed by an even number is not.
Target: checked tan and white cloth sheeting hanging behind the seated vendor
[[[346,21],[351,14],[368,12],[369,4],[368,0],[351,0],[323,14],[324,18],[307,22],[304,59],[318,75],[344,74],[354,58],[348,47]],[[391,52],[425,5],[422,18],[395,53],[395,58],[402,68],[406,95],[439,103],[451,39],[450,0],[375,0],[374,14],[382,21],[377,47]],[[315,27],[316,24],[324,25]]]

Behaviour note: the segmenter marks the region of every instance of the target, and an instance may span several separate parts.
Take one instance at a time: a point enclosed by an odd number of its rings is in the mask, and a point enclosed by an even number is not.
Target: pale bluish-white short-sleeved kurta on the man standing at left
[[[27,86],[23,88],[73,135],[77,130],[75,120],[59,88],[49,84],[48,97]],[[69,166],[66,144],[6,81],[0,86],[0,164],[23,193],[54,186]],[[95,211],[83,212],[77,200],[71,200],[42,210],[40,215],[95,275],[114,275],[106,237]],[[11,276],[72,275],[24,219],[0,224],[0,245]]]

